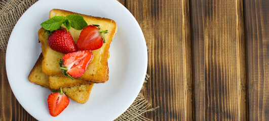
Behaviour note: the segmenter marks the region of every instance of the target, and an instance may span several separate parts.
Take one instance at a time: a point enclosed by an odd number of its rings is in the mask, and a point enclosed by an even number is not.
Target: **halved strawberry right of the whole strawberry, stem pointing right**
[[[105,33],[107,33],[107,30],[103,31],[99,25],[89,25],[82,29],[76,46],[81,50],[99,49],[105,42]]]

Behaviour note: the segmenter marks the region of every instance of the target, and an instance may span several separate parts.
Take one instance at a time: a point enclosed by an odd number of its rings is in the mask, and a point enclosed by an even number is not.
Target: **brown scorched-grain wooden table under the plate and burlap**
[[[148,46],[143,95],[153,120],[269,120],[269,1],[122,3]],[[18,103],[0,53],[0,119],[35,120]]]

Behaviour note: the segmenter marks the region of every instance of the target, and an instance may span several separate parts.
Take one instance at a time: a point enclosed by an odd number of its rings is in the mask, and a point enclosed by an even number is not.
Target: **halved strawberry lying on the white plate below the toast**
[[[51,93],[48,97],[48,107],[51,116],[59,115],[69,104],[69,98],[63,93],[62,88],[60,92]]]

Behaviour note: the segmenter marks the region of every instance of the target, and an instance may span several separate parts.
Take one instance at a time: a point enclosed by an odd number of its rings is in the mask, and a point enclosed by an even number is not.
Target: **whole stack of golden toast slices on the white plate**
[[[67,16],[73,13],[65,10],[53,9],[50,11],[50,18],[54,16]],[[90,92],[95,83],[104,83],[108,80],[108,65],[107,59],[109,57],[109,47],[114,33],[117,31],[116,22],[111,19],[93,17],[82,15],[88,25],[97,24],[103,30],[108,30],[104,38],[106,42],[101,48],[92,50],[93,59],[89,64],[86,72],[82,77],[71,79],[70,77],[62,75],[59,62],[64,53],[55,51],[48,45],[48,35],[44,32],[45,29],[41,28],[38,32],[39,42],[41,42],[42,53],[37,59],[28,79],[34,84],[38,84],[49,88],[50,90],[58,90],[60,87],[67,95],[76,102],[85,103],[89,99]],[[64,26],[62,26],[64,27]],[[78,41],[81,30],[70,28],[69,30],[74,42]]]

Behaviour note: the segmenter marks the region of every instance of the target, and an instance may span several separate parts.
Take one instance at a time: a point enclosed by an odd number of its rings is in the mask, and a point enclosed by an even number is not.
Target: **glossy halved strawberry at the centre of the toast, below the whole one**
[[[60,60],[62,74],[69,76],[72,79],[81,77],[85,73],[92,59],[93,53],[91,50],[67,53],[63,56],[63,59]]]

